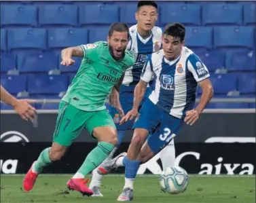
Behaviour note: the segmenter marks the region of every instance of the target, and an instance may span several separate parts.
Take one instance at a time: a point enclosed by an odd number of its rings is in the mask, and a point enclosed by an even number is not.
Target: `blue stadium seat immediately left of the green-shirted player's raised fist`
[[[20,73],[48,73],[58,68],[58,58],[52,52],[27,53],[18,55]]]

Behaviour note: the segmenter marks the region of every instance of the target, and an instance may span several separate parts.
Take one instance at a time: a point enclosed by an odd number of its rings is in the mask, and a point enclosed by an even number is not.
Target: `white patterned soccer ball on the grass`
[[[188,182],[187,172],[179,166],[166,168],[160,176],[161,190],[166,193],[183,193],[187,189]]]

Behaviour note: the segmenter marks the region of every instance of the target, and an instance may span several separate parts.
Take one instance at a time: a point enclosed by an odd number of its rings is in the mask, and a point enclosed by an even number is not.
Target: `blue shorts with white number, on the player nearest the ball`
[[[139,119],[133,126],[149,131],[147,144],[154,153],[166,147],[184,124],[183,119],[174,117],[160,108],[147,99],[141,108]]]

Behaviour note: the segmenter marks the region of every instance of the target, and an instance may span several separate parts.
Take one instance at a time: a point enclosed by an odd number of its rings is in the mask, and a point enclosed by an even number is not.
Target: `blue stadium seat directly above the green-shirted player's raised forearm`
[[[49,29],[48,46],[49,48],[67,48],[88,42],[87,29]]]

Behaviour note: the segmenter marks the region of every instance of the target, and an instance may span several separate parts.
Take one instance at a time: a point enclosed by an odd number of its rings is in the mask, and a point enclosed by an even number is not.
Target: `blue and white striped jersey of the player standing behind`
[[[141,71],[149,54],[157,52],[161,48],[162,29],[158,26],[154,26],[151,35],[147,37],[147,39],[143,39],[139,35],[136,24],[131,26],[129,31],[130,41],[127,50],[134,53],[134,58],[136,58],[136,60],[132,67],[126,69],[123,84],[125,86],[135,86],[141,78]]]

